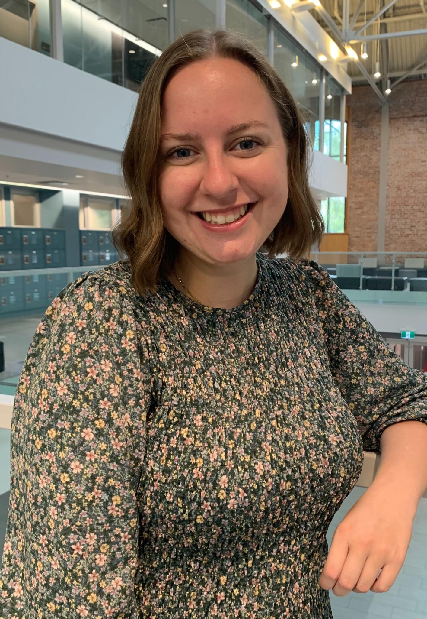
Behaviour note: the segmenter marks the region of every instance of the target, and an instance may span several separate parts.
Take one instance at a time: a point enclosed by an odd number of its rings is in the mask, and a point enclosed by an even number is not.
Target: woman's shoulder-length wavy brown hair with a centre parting
[[[129,258],[132,285],[140,295],[156,292],[159,279],[172,270],[179,243],[164,227],[158,191],[161,103],[172,76],[198,60],[232,58],[261,79],[274,105],[288,151],[289,197],[284,214],[260,251],[274,258],[289,254],[298,261],[320,243],[324,222],[308,186],[311,147],[303,116],[268,58],[240,33],[228,28],[198,28],[177,38],[156,58],[138,95],[132,125],[122,152],[122,171],[130,206],[112,228],[120,259]]]

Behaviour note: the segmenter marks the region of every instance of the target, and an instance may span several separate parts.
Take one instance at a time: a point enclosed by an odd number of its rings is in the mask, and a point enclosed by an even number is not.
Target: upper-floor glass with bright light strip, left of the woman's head
[[[64,62],[132,90],[168,44],[161,2],[61,0],[61,10]]]

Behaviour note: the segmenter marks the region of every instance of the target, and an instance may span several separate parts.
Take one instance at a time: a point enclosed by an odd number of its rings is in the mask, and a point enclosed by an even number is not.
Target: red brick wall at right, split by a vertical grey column
[[[349,251],[376,251],[381,102],[370,86],[353,87]],[[389,98],[384,251],[427,252],[427,80],[404,82]]]

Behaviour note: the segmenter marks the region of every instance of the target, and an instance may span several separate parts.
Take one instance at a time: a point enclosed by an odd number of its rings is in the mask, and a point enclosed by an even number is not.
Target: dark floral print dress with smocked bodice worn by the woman
[[[326,532],[363,450],[427,423],[405,365],[314,261],[257,253],[237,308],[129,261],[52,301],[14,401],[3,619],[328,619]]]

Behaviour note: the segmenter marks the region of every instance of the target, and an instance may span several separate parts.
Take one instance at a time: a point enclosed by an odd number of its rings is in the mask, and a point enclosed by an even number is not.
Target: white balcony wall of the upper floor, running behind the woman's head
[[[0,38],[0,180],[123,193],[120,153],[137,94]],[[85,178],[75,180],[75,174]],[[315,193],[347,196],[347,166],[314,152]]]

